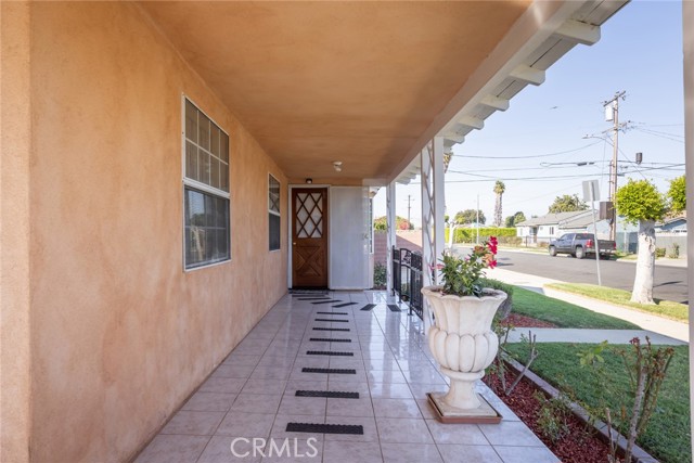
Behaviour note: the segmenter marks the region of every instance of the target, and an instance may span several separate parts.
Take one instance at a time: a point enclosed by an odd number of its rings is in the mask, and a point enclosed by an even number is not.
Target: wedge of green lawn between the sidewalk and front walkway
[[[596,313],[563,300],[515,286],[513,312],[554,323],[558,327],[641,330],[640,326]]]

